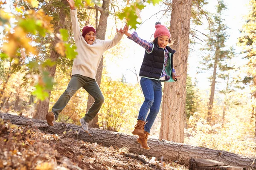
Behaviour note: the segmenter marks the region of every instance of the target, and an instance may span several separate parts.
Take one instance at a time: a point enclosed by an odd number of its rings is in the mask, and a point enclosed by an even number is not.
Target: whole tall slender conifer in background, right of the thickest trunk
[[[212,118],[212,105],[214,101],[216,78],[218,77],[217,69],[224,71],[225,69],[229,68],[227,67],[226,63],[223,64],[223,61],[229,57],[228,51],[224,50],[226,47],[224,43],[226,42],[228,36],[226,34],[227,26],[225,26],[223,23],[224,19],[221,18],[223,11],[226,9],[223,0],[218,1],[216,8],[217,11],[213,17],[212,26],[209,28],[210,34],[206,40],[207,45],[202,49],[209,53],[203,59],[203,65],[206,68],[202,69],[209,70],[213,67],[212,77],[210,77],[211,91],[209,97],[207,122],[210,122]]]

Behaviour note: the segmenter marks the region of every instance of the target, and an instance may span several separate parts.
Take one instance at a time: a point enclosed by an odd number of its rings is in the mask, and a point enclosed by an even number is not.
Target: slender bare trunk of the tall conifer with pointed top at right
[[[210,94],[209,105],[208,105],[207,122],[211,122],[211,119],[212,119],[212,105],[213,105],[213,99],[214,99],[217,65],[218,65],[218,56],[217,55],[218,54],[215,54],[215,60],[214,60],[214,66],[213,66],[212,85],[211,85],[211,94]]]

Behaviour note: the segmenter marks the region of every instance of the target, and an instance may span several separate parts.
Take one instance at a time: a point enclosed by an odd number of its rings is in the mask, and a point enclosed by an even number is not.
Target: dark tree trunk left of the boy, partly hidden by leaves
[[[64,4],[66,4],[66,0],[63,0]],[[54,32],[55,33],[59,33],[60,28],[64,27],[64,23],[65,23],[65,19],[66,19],[66,14],[65,11],[63,9],[59,10],[59,22],[58,22],[58,26],[54,26]],[[58,42],[58,39],[55,38],[55,40],[52,42],[51,47],[52,51],[50,54],[50,59],[52,60],[52,62],[55,62],[58,57],[59,54],[54,50],[54,47],[56,45],[56,43]],[[54,79],[55,76],[55,71],[56,71],[56,65],[52,66],[52,67],[48,67],[47,70],[49,71],[49,77],[52,77]],[[45,115],[48,112],[49,109],[49,99],[51,96],[51,90],[47,91],[49,94],[49,97],[47,99],[45,99],[44,101],[38,100],[37,105],[36,105],[36,109],[35,109],[35,113],[33,114],[33,118],[35,119],[45,119]]]

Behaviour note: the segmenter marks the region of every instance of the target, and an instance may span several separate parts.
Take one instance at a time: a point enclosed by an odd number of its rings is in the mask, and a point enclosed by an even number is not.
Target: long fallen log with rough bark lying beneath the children
[[[31,127],[33,127],[33,124],[42,125],[46,123],[45,120],[29,119],[24,116],[16,116],[8,113],[0,113],[0,118],[4,119],[5,121],[9,120],[9,122],[12,124],[26,124],[31,125]],[[189,160],[191,158],[201,158],[213,159],[225,164],[229,164],[230,166],[243,167],[247,170],[256,169],[253,158],[222,150],[195,147],[188,144],[150,138],[148,139],[148,145],[151,147],[151,149],[144,150],[142,147],[140,147],[140,144],[136,142],[137,136],[127,135],[125,133],[117,133],[96,128],[89,128],[89,133],[86,133],[84,130],[82,130],[81,126],[57,122],[55,122],[54,126],[39,126],[38,128],[47,133],[58,134],[59,136],[65,135],[67,137],[73,137],[91,143],[97,142],[108,147],[111,145],[119,148],[127,147],[131,153],[154,156],[158,159],[163,156],[165,160],[176,161],[185,166],[189,166]]]

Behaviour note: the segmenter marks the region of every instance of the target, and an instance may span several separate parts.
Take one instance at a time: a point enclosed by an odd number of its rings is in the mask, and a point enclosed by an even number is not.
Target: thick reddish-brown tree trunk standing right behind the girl
[[[171,15],[171,39],[176,50],[173,62],[176,74],[181,75],[177,82],[164,83],[163,109],[160,138],[174,142],[184,142],[184,120],[186,114],[186,74],[189,51],[189,29],[192,0],[173,0]]]

